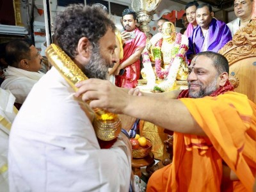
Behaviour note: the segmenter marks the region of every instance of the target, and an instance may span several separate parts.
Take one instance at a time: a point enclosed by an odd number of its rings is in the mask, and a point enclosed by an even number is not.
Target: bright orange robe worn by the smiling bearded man
[[[207,137],[173,134],[173,163],[157,170],[147,191],[252,191],[256,175],[256,104],[246,95],[180,99]],[[227,164],[239,178],[223,182]]]

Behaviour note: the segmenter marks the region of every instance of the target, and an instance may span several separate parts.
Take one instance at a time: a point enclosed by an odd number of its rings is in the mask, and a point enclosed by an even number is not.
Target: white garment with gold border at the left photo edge
[[[17,114],[13,106],[15,97],[9,90],[0,88],[0,191],[8,192],[8,143],[12,122]]]

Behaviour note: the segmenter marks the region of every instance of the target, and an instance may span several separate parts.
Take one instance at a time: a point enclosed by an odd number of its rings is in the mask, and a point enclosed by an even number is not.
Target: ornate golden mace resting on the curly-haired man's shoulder
[[[60,72],[61,76],[76,91],[76,83],[88,79],[79,67],[68,55],[55,44],[51,44],[45,50],[49,62]],[[109,113],[99,108],[93,109],[96,114],[93,120],[93,127],[96,136],[100,140],[110,141],[115,139],[121,131],[121,121],[116,114]]]

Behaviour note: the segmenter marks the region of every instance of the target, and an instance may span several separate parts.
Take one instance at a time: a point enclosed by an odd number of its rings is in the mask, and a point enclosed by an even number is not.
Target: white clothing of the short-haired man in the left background
[[[21,68],[8,66],[4,69],[4,81],[1,88],[10,90],[14,97],[15,102],[23,104],[34,84],[44,76],[40,72],[30,72]]]

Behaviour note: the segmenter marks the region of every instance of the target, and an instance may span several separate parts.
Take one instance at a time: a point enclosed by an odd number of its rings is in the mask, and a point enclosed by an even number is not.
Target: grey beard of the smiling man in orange
[[[191,98],[202,98],[205,96],[211,95],[211,93],[215,92],[217,90],[217,77],[213,79],[213,81],[205,86],[205,88],[202,88],[202,83],[196,83],[200,84],[200,90],[199,92],[193,92],[190,90],[190,82],[188,83],[188,88],[189,88],[189,97]]]

